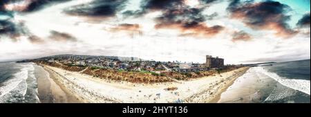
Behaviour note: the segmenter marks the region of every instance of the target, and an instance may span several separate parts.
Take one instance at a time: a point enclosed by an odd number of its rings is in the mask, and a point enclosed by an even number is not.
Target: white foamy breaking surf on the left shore
[[[39,99],[33,64],[14,64],[11,67],[17,67],[19,71],[12,74],[8,80],[1,82],[0,102],[28,102],[27,98],[30,96],[35,100]]]

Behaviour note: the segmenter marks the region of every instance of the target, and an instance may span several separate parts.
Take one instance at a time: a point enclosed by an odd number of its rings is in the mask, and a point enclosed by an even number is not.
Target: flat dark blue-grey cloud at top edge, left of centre
[[[124,7],[126,0],[95,0],[88,4],[73,6],[64,10],[68,15],[90,17],[113,17]]]

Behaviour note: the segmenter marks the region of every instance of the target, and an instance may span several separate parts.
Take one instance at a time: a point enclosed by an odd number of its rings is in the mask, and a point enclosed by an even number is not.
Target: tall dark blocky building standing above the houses
[[[212,57],[211,55],[206,55],[207,68],[219,68],[224,66],[224,59],[219,57]]]

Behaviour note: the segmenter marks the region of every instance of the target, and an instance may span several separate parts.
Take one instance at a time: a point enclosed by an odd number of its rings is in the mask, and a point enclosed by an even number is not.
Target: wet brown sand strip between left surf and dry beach
[[[72,93],[55,82],[55,76],[48,69],[35,65],[39,100],[42,103],[75,103],[82,102]]]

